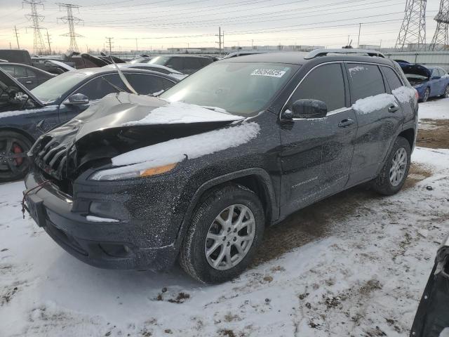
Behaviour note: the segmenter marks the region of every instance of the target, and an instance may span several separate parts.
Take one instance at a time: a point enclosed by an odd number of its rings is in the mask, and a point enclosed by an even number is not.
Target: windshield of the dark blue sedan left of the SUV
[[[31,92],[43,102],[58,100],[61,95],[67,93],[88,76],[89,74],[83,72],[65,72],[36,86]]]

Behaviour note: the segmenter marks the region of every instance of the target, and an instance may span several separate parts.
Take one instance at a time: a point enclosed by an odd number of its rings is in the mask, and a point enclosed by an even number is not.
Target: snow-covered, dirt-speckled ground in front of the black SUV
[[[85,265],[22,220],[23,183],[1,185],[0,336],[408,336],[449,232],[449,150],[417,148],[413,161],[431,176],[394,197],[359,187],[290,216],[267,230],[250,270],[217,286],[179,267]]]

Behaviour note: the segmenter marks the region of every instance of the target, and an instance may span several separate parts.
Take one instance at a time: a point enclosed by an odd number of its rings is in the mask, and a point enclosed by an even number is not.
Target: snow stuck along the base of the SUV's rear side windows
[[[379,95],[356,100],[356,103],[352,105],[352,108],[359,114],[369,114],[370,112],[381,110],[384,107],[396,103],[396,99],[401,103],[406,103],[415,97],[415,89],[408,88],[407,86],[401,86],[391,92],[393,95],[390,95],[389,93],[380,93]]]

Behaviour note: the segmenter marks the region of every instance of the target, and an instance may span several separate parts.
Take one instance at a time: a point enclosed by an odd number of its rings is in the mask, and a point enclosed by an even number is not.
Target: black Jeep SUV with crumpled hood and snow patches
[[[394,61],[338,53],[230,58],[159,98],[108,95],[34,144],[29,213],[91,265],[236,277],[267,225],[406,180],[416,91]]]

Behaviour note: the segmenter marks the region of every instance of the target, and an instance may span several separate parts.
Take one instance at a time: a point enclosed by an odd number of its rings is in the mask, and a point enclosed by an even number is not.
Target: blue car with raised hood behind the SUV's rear
[[[410,84],[420,95],[421,102],[427,102],[432,97],[449,97],[449,75],[441,67],[426,67],[399,61]]]

